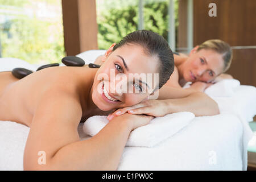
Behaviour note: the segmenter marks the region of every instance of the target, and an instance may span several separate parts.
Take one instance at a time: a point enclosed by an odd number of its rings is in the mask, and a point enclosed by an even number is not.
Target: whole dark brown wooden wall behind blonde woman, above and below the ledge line
[[[209,3],[216,3],[217,16],[210,17]],[[193,0],[193,45],[209,39],[221,39],[233,49],[233,63],[227,73],[244,85],[256,86],[256,1]]]

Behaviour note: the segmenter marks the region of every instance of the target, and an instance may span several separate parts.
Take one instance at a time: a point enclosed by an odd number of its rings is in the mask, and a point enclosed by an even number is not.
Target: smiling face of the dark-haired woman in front
[[[125,44],[115,51],[110,47],[102,61],[92,91],[92,100],[101,110],[138,104],[158,85],[158,80],[147,77],[158,73],[158,57],[147,55],[142,46]]]

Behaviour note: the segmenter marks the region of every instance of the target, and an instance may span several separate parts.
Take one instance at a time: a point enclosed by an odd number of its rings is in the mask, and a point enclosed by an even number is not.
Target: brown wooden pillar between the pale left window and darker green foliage
[[[96,0],[62,0],[67,56],[98,49]]]

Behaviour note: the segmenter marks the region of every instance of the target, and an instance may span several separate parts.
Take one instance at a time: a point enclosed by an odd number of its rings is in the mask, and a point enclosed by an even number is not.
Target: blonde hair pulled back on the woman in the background
[[[223,72],[226,72],[229,69],[233,58],[233,52],[228,43],[218,39],[211,39],[205,41],[203,44],[200,44],[199,48],[197,48],[197,51],[200,51],[201,49],[211,49],[217,53],[220,53],[224,60]]]

